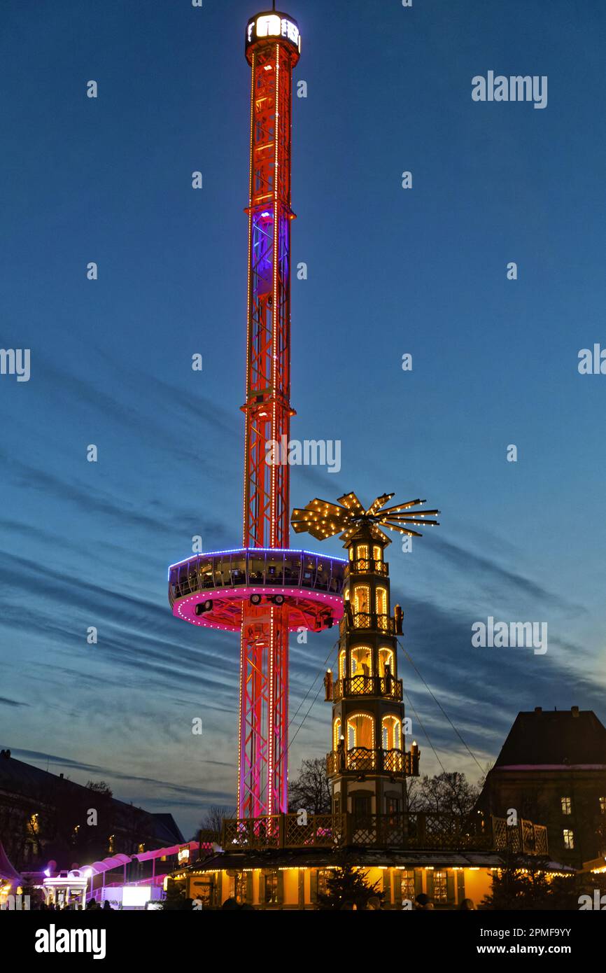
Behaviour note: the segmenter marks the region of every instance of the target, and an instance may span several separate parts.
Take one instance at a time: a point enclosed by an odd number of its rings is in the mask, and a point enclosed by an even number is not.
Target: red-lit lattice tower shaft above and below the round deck
[[[272,12],[247,27],[251,66],[248,313],[244,453],[245,548],[289,546],[289,466],[267,462],[288,443],[292,73],[299,30]],[[238,815],[287,809],[288,618],[279,605],[242,604]]]

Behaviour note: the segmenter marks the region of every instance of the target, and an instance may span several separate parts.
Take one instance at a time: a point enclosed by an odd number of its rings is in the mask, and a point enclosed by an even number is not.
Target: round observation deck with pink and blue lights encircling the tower
[[[240,631],[242,608],[282,607],[289,631],[323,631],[342,618],[346,564],[263,548],[194,555],[171,564],[168,600],[175,618],[207,629]]]

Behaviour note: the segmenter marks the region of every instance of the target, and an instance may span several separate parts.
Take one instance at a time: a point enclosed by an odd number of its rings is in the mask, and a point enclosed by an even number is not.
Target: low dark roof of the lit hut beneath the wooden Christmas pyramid
[[[251,851],[221,851],[198,859],[186,872],[214,872],[245,868],[324,868],[339,865],[343,858],[352,865],[367,868],[499,868],[503,855],[496,851],[409,851],[402,848],[349,847],[339,852],[331,848],[266,848]],[[569,871],[557,862],[542,865],[546,871]],[[177,873],[179,874],[179,873]]]

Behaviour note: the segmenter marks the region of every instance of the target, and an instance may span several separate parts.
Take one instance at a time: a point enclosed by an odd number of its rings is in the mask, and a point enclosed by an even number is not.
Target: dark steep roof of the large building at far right
[[[517,714],[494,768],[606,766],[606,727],[591,709]]]

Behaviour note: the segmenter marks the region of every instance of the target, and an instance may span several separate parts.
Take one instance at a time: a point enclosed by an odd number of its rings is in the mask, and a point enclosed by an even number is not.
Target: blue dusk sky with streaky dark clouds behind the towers
[[[292,469],[291,506],[353,489],[440,508],[412,553],[388,549],[392,603],[485,768],[519,709],[606,720],[606,375],[578,370],[581,349],[606,346],[606,7],[285,9],[307,83],[291,434],[341,443],[339,473]],[[248,0],[0,11],[0,346],[31,349],[29,381],[0,376],[0,744],[171,811],[186,837],[204,807],[235,804],[238,636],[174,619],[166,571],[196,534],[208,551],[241,543],[255,13]],[[547,107],[474,101],[488,71],[547,76]],[[291,544],[342,556],[339,539]],[[548,652],[472,647],[489,616],[547,623]],[[291,736],[335,639],[291,641],[291,713],[317,677]],[[428,733],[446,770],[476,780],[399,667],[421,773],[440,772]],[[320,693],[291,776],[330,748],[330,717]]]

